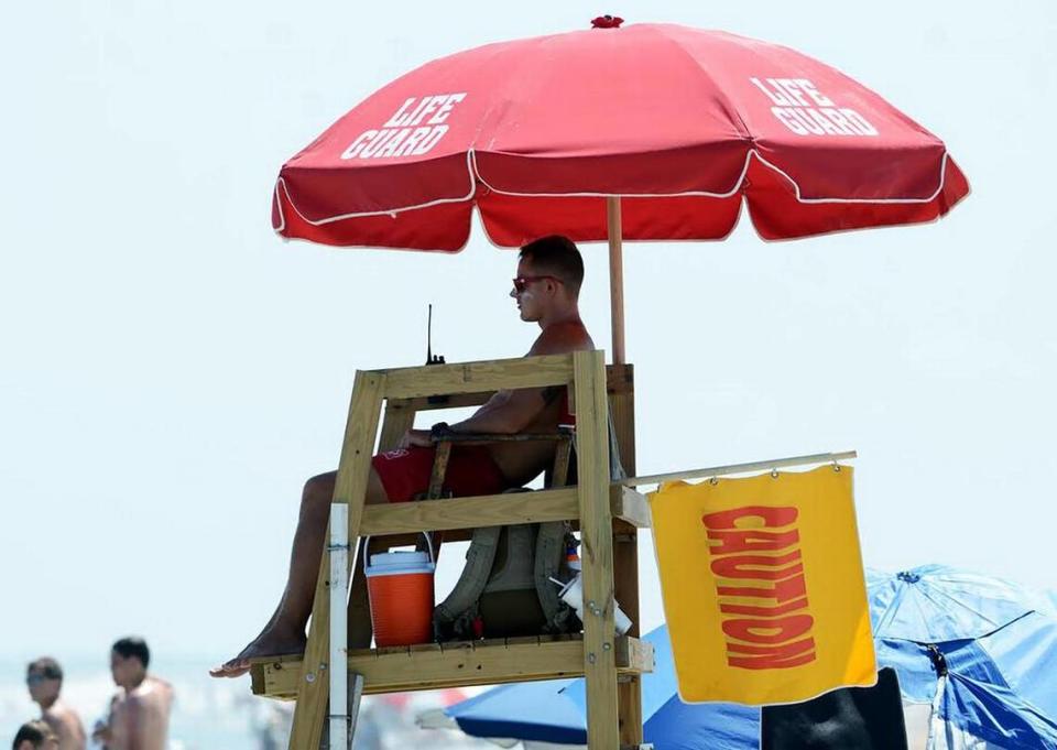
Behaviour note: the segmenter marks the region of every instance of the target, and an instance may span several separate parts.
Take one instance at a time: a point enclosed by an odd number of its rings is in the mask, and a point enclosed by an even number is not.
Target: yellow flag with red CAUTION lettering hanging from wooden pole
[[[650,507],[683,700],[876,682],[850,467],[664,485]]]

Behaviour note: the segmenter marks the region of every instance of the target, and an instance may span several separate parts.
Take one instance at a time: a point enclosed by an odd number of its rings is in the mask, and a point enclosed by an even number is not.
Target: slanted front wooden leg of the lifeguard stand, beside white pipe
[[[360,519],[363,517],[367,481],[374,438],[378,435],[384,384],[383,374],[357,372],[356,383],[352,387],[349,420],[334,489],[334,502],[349,504],[350,540],[359,536]],[[329,530],[327,537],[329,539]],[[309,750],[319,747],[330,692],[326,670],[330,666],[348,669],[346,664],[337,666],[327,663],[330,624],[329,573],[330,555],[324,550],[308,628],[308,644],[305,648],[301,681],[297,686],[297,707],[294,710],[294,726],[290,735],[290,750]]]

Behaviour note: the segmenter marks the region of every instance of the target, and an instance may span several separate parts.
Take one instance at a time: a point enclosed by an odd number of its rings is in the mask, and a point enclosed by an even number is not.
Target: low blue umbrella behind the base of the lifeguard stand
[[[760,710],[679,700],[666,627],[646,634],[655,667],[642,677],[643,738],[655,750],[745,750],[760,742]],[[582,678],[503,685],[445,709],[473,737],[586,744]]]

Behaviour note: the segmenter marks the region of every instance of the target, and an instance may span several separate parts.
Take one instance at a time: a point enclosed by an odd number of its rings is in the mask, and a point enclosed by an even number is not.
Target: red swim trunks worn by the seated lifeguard
[[[435,448],[411,447],[390,450],[371,458],[390,502],[406,502],[429,489]],[[444,489],[456,497],[498,494],[506,480],[487,448],[479,445],[451,447]]]

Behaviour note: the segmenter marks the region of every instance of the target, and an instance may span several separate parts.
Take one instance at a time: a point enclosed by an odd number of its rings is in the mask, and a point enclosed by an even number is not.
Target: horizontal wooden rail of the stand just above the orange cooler
[[[368,506],[360,521],[361,536],[415,534],[512,523],[568,521],[580,514],[576,487],[536,492],[509,492],[476,498],[449,498]],[[610,486],[610,512],[640,529],[650,526],[646,498],[622,485]]]

